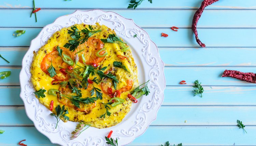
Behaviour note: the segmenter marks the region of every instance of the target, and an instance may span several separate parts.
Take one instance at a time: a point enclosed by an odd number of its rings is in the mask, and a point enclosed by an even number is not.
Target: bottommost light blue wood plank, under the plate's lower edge
[[[245,127],[247,134],[237,126],[151,126],[128,146],[159,146],[169,141],[171,145],[182,143],[184,146],[239,146],[256,145],[256,127]],[[54,145],[34,127],[0,127],[2,146],[16,146],[26,139],[27,145]],[[86,131],[84,131],[86,132]],[[17,136],[13,136],[17,133]],[[31,136],[33,135],[33,136]],[[54,145],[55,146],[55,145]]]

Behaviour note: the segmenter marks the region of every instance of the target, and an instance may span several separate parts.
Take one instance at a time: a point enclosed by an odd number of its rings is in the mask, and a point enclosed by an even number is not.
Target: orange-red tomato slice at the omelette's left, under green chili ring
[[[43,72],[45,72],[46,74],[49,75],[47,69],[51,66],[51,61],[53,63],[53,67],[55,68],[56,71],[56,75],[53,77],[56,80],[60,80],[60,81],[66,81],[68,79],[68,75],[67,74],[62,74],[60,72],[60,69],[64,68],[68,68],[68,64],[65,63],[62,58],[58,55],[58,51],[56,50],[57,46],[54,47],[54,50],[51,53],[48,53],[42,60],[41,62],[41,69]],[[62,48],[60,47],[60,49],[62,49],[62,54],[66,54],[69,57],[71,57],[72,59],[74,59],[74,53],[72,53],[69,49],[67,48]]]

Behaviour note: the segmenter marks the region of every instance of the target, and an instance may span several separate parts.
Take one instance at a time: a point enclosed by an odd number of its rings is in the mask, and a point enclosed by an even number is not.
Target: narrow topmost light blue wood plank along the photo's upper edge
[[[156,8],[156,9],[197,9],[201,5],[202,0],[157,0],[153,4],[145,1],[138,8]],[[126,9],[128,1],[116,0],[106,3],[105,0],[97,0],[96,2],[84,2],[83,0],[62,1],[62,0],[36,0],[35,6],[41,8],[75,8],[75,9]],[[225,0],[216,2],[206,9],[255,9],[256,3],[254,0]],[[32,1],[26,0],[2,0],[0,8],[33,8]]]

